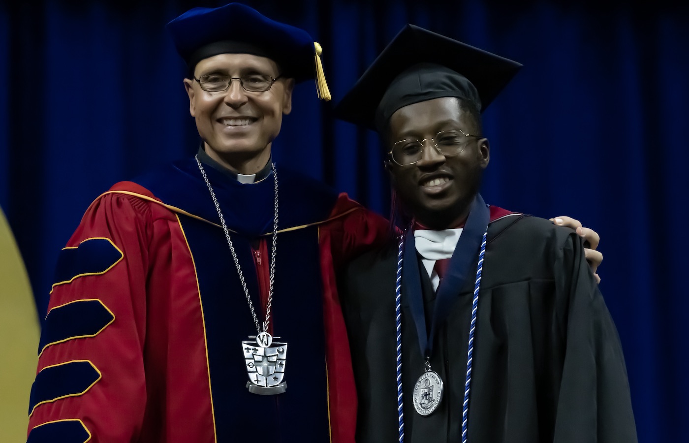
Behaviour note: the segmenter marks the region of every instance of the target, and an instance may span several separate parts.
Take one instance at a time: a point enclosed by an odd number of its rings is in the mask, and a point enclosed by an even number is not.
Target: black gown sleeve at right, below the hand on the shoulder
[[[568,236],[555,255],[554,274],[558,298],[568,305],[553,442],[635,443],[619,336],[576,236]]]

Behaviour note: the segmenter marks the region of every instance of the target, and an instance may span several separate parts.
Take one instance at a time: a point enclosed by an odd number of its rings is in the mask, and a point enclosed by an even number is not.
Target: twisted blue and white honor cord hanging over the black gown
[[[405,233],[406,234],[406,233]],[[405,234],[400,236],[397,254],[397,284],[395,286],[395,318],[397,326],[397,412],[400,430],[400,443],[404,443],[404,408],[402,403],[402,254],[404,254]],[[478,313],[478,294],[481,288],[483,259],[486,255],[486,232],[481,240],[481,251],[478,255],[476,280],[473,301],[471,303],[471,327],[469,328],[469,345],[466,351],[466,381],[464,382],[464,404],[462,406],[462,443],[466,443],[466,430],[469,426],[469,388],[471,387],[471,362],[473,360],[473,341]]]

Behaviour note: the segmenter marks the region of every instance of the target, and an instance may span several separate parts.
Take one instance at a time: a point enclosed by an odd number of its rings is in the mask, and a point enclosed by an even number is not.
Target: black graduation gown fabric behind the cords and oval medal
[[[399,438],[397,252],[395,243],[361,256],[340,278],[360,443]],[[420,258],[418,269],[430,328],[435,292]],[[466,280],[433,342],[444,397],[426,417],[411,400],[425,359],[402,289],[405,443],[462,441],[474,278]],[[477,316],[470,443],[637,442],[619,336],[574,231],[521,215],[491,223]]]

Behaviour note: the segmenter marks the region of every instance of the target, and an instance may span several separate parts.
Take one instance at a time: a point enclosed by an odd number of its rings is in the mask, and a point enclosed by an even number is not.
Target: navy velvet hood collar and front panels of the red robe
[[[251,245],[271,243],[274,181],[245,185],[205,167],[223,211],[256,309],[261,309]],[[278,234],[271,324],[287,342],[287,391],[249,393],[242,340],[256,327],[223,230],[181,215],[194,256],[205,318],[210,380],[218,442],[329,441],[327,373],[323,327],[318,223],[331,213],[338,194],[302,174],[277,167]],[[193,158],[174,163],[136,183],[167,205],[219,224],[216,208]],[[269,247],[270,249],[270,247]],[[269,252],[270,254],[270,252]],[[269,258],[267,258],[269,259]],[[179,356],[184,358],[184,356]]]

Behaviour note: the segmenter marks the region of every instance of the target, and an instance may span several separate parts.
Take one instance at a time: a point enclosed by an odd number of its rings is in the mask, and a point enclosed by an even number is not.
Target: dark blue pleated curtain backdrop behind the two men
[[[601,291],[626,353],[639,441],[686,441],[689,9],[665,1],[248,1],[324,48],[334,101],[405,23],[524,63],[484,114],[486,201],[567,214],[603,239]],[[568,4],[575,3],[575,4]],[[679,2],[677,2],[679,3]],[[183,63],[164,25],[199,1],[0,3],[0,205],[39,315],[90,202],[196,150]],[[275,143],[298,167],[387,213],[374,134],[297,87]]]

